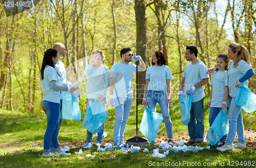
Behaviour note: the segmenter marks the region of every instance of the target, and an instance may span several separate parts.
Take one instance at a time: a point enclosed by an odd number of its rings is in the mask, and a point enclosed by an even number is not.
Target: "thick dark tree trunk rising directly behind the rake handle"
[[[146,6],[143,0],[135,0],[136,16],[136,55],[141,55],[142,60],[147,60],[147,29],[146,29]],[[142,102],[145,86],[145,71],[138,72],[138,102]],[[143,87],[142,87],[143,86]]]

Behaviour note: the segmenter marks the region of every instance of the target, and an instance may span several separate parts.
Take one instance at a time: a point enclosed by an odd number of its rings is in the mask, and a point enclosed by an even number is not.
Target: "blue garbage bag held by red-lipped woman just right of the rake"
[[[162,121],[162,114],[156,113],[145,106],[139,130],[151,144],[155,143],[157,132]]]

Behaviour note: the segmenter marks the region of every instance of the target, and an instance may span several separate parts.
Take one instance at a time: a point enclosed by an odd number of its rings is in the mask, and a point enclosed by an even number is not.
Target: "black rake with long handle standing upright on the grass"
[[[136,62],[136,136],[128,139],[125,145],[136,146],[136,147],[144,147],[150,146],[146,139],[138,136],[138,61]]]

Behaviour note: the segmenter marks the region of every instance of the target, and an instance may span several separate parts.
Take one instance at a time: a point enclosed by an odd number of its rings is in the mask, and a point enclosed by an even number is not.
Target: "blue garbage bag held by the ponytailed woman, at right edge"
[[[243,106],[242,108],[247,113],[256,111],[256,95],[248,87],[240,85],[236,96],[236,104],[240,107]]]

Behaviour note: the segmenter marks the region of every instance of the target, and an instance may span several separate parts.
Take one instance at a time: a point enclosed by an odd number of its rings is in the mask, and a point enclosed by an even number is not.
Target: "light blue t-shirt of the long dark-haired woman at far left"
[[[60,85],[60,78],[56,70],[47,66],[44,70],[44,79],[41,80],[42,88],[42,100],[59,103],[60,100],[60,91],[53,91],[50,85],[50,81],[55,80],[57,85]]]

